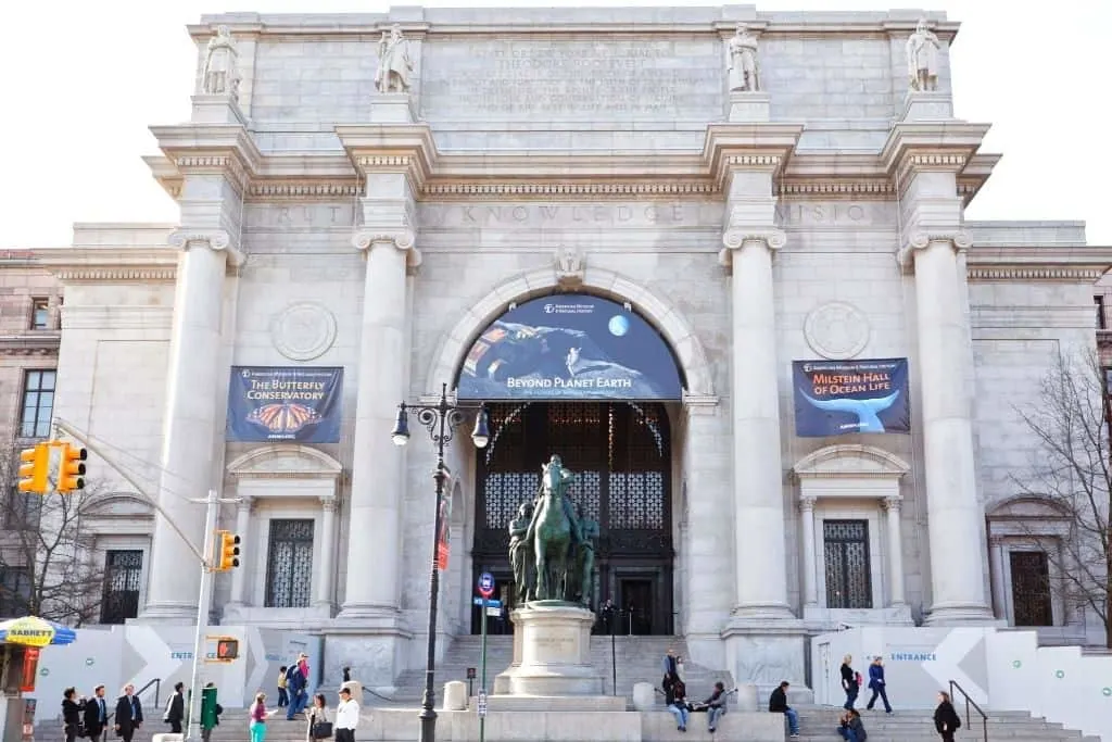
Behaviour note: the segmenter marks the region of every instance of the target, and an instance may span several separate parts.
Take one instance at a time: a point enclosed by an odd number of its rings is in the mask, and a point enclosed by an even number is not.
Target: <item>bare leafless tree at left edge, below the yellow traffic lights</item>
[[[21,493],[18,452],[0,452],[0,606],[13,615],[37,615],[80,626],[100,619],[103,562],[88,528],[96,486],[62,495]],[[12,616],[7,616],[12,617]]]

